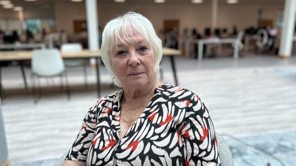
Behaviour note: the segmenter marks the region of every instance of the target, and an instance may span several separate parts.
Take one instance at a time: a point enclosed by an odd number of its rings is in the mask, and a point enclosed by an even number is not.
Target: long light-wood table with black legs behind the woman
[[[62,58],[95,58],[96,59],[96,74],[97,74],[97,94],[100,97],[100,73],[98,66],[98,59],[101,58],[101,51],[90,51],[90,50],[82,50],[82,51],[73,51],[73,52],[60,52]],[[163,56],[169,56],[171,59],[173,74],[175,77],[175,84],[178,85],[177,75],[176,75],[176,67],[174,62],[174,56],[178,56],[181,54],[181,51],[175,50],[172,48],[162,48]],[[24,80],[25,87],[27,86],[26,75],[24,71],[24,66],[22,61],[31,60],[33,56],[33,51],[0,51],[0,61],[19,61],[22,71],[22,76]],[[0,66],[0,94],[1,94],[1,66]]]

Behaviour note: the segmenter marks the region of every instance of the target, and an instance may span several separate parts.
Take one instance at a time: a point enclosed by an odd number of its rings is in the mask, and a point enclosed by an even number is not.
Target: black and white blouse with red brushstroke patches
[[[159,86],[154,93],[122,139],[123,90],[97,100],[65,160],[86,162],[87,166],[220,165],[214,126],[200,98],[170,84]]]

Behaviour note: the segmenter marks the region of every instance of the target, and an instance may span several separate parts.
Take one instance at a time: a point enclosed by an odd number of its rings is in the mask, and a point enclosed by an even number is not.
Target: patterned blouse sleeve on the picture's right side
[[[185,165],[220,166],[218,143],[209,112],[197,95],[191,97],[181,126]]]

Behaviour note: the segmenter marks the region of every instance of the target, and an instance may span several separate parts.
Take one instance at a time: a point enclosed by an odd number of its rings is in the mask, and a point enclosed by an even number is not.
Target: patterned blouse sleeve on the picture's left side
[[[76,140],[69,150],[65,160],[73,160],[86,162],[88,148],[95,135],[96,128],[96,110],[98,101],[92,108],[89,108],[85,118],[83,119],[81,130],[79,131]]]

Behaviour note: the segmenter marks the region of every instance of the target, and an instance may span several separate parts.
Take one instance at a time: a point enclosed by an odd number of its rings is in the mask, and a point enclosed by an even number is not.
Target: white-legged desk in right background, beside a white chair
[[[233,58],[237,59],[239,58],[239,40],[236,38],[228,38],[228,39],[219,39],[219,38],[213,38],[213,39],[200,39],[198,42],[198,60],[202,60],[202,54],[204,52],[204,44],[223,44],[223,43],[230,43],[234,44],[234,52],[233,52]]]

